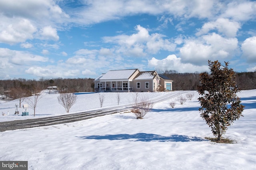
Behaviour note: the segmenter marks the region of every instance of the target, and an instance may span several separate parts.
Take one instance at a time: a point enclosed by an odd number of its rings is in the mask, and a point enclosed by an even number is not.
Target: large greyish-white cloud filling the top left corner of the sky
[[[70,18],[53,0],[1,0],[0,11],[0,42],[11,45],[42,38],[38,37],[40,33],[45,39],[57,41],[59,37],[52,27],[62,29]]]

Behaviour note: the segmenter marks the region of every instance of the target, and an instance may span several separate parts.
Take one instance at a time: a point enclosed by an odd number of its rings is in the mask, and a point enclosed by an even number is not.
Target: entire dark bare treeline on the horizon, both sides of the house
[[[199,74],[178,73],[175,70],[169,70],[162,73],[173,80],[173,90],[197,90],[200,85]],[[256,71],[255,72],[237,72],[236,84],[241,90],[256,89]],[[94,79],[92,78],[54,78],[39,80],[26,80],[23,78],[13,80],[0,80],[0,93],[6,90],[19,90],[23,92],[33,92],[34,89],[44,90],[49,86],[57,86],[59,90],[68,92],[94,92]]]

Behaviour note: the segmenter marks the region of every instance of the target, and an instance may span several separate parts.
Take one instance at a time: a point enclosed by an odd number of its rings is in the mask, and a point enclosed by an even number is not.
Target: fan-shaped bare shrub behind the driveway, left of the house
[[[59,104],[63,106],[68,113],[69,109],[76,103],[77,96],[72,93],[60,93],[57,98]]]

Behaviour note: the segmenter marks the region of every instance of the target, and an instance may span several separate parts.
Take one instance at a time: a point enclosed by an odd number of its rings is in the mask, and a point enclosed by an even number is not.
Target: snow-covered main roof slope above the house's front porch
[[[129,79],[130,76],[136,71],[137,69],[131,70],[111,70],[104,74],[98,80],[118,80],[118,79]]]

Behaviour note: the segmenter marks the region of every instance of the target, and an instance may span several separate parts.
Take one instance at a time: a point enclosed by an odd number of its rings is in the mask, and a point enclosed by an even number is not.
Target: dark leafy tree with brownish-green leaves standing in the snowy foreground
[[[200,74],[201,85],[198,86],[198,98],[201,108],[200,116],[211,127],[214,136],[221,140],[222,134],[233,121],[239,119],[244,110],[240,98],[236,95],[240,92],[235,83],[235,73],[228,68],[228,62],[221,65],[218,61],[208,61],[211,74]]]

